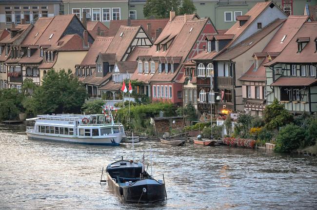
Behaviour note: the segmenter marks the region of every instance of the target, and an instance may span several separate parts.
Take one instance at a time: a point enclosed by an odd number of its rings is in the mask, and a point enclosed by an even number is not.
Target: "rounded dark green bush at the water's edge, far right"
[[[305,138],[305,131],[297,125],[288,124],[281,128],[276,137],[275,151],[290,152],[296,150]]]

